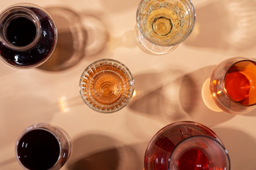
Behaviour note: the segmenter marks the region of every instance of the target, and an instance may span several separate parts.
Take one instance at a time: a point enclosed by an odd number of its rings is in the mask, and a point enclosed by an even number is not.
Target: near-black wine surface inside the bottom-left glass
[[[60,146],[52,133],[36,129],[21,137],[17,154],[20,162],[29,170],[47,170],[57,162]]]

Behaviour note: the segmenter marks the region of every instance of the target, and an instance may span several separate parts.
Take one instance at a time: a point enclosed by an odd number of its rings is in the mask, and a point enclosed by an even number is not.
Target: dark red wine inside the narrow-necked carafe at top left
[[[36,37],[36,29],[40,29],[40,38],[28,50],[13,50],[0,44],[0,54],[4,60],[17,67],[30,67],[48,59],[56,43],[56,28],[52,20],[43,11],[30,8],[40,21],[40,28],[28,18],[18,16],[13,18],[7,26],[6,38],[13,46],[27,46]],[[13,14],[10,14],[13,15]]]

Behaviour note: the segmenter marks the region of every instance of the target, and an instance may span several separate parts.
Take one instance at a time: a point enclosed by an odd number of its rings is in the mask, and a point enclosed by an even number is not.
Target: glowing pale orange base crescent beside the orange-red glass
[[[207,80],[204,82],[203,86],[202,86],[202,99],[204,101],[204,104],[211,109],[212,111],[216,111],[216,112],[221,112],[223,111],[222,109],[220,109],[216,103],[213,101],[212,97],[211,97],[211,92],[210,92],[210,78],[207,78]]]

